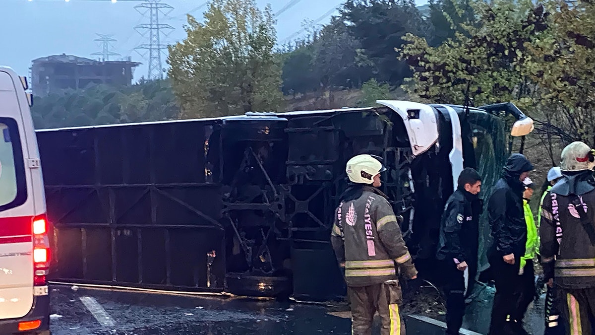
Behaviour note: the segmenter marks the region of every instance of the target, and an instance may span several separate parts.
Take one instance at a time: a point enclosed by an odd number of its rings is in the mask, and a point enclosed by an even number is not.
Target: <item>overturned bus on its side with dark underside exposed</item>
[[[37,131],[52,280],[338,299],[330,230],[345,163],[360,153],[383,157],[383,191],[405,218],[420,275],[432,278],[458,173],[476,168],[493,185],[533,121],[511,103],[378,103]],[[481,229],[484,246],[485,220]]]

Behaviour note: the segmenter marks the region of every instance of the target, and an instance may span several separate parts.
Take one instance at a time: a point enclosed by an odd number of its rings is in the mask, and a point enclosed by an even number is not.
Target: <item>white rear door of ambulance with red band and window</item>
[[[33,305],[36,209],[27,167],[30,118],[20,78],[0,68],[0,319],[24,317]]]

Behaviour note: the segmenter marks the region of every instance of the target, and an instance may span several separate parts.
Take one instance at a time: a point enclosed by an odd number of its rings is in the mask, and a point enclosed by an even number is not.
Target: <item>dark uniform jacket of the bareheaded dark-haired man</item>
[[[479,197],[459,188],[446,201],[440,222],[438,260],[456,258],[461,263],[477,263],[479,226],[472,206],[475,200]]]

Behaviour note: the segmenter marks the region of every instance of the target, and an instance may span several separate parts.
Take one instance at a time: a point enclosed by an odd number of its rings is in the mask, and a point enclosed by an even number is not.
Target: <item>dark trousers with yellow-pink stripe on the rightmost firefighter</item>
[[[595,320],[595,287],[588,289],[565,289],[556,287],[556,298],[566,334],[593,334],[592,321]]]

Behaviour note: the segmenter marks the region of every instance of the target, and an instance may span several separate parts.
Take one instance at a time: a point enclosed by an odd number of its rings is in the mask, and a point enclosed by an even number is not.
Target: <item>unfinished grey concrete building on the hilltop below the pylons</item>
[[[43,97],[63,89],[86,88],[93,84],[131,85],[134,68],[130,60],[97,61],[72,55],[54,55],[33,60],[33,95]]]

